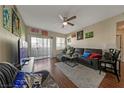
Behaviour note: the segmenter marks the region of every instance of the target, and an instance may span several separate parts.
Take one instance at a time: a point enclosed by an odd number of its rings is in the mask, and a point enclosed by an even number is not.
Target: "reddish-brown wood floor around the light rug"
[[[34,65],[35,71],[48,70],[61,88],[77,88],[62,72],[55,66],[57,60],[44,59],[37,60]],[[124,63],[121,63],[121,79],[117,81],[115,75],[107,73],[99,88],[123,88],[124,87]]]

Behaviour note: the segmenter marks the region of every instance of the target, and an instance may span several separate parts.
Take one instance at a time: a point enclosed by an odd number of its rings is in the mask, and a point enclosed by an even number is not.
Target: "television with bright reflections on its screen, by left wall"
[[[19,64],[24,64],[24,59],[28,58],[28,43],[25,40],[18,40],[18,61]]]

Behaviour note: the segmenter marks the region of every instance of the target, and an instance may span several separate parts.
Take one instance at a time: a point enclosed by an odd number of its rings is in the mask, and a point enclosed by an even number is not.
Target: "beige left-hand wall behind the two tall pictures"
[[[8,6],[13,8],[13,6]],[[25,25],[19,14],[16,12],[20,19],[20,31],[23,35],[20,38],[25,39]],[[2,6],[0,6],[0,62],[7,61],[11,63],[18,62],[18,39],[19,37],[15,36],[8,30],[3,28],[3,15],[2,15]],[[12,28],[10,27],[10,31]]]

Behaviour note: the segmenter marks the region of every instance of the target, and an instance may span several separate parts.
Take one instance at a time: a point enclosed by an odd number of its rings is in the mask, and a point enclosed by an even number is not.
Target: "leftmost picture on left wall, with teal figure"
[[[3,28],[12,32],[11,30],[11,8],[3,5]]]

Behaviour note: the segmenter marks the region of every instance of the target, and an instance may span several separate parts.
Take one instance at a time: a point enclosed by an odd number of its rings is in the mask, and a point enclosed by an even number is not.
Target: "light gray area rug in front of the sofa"
[[[104,72],[99,74],[99,70],[81,64],[73,68],[63,62],[55,65],[79,88],[98,88],[105,76]]]

